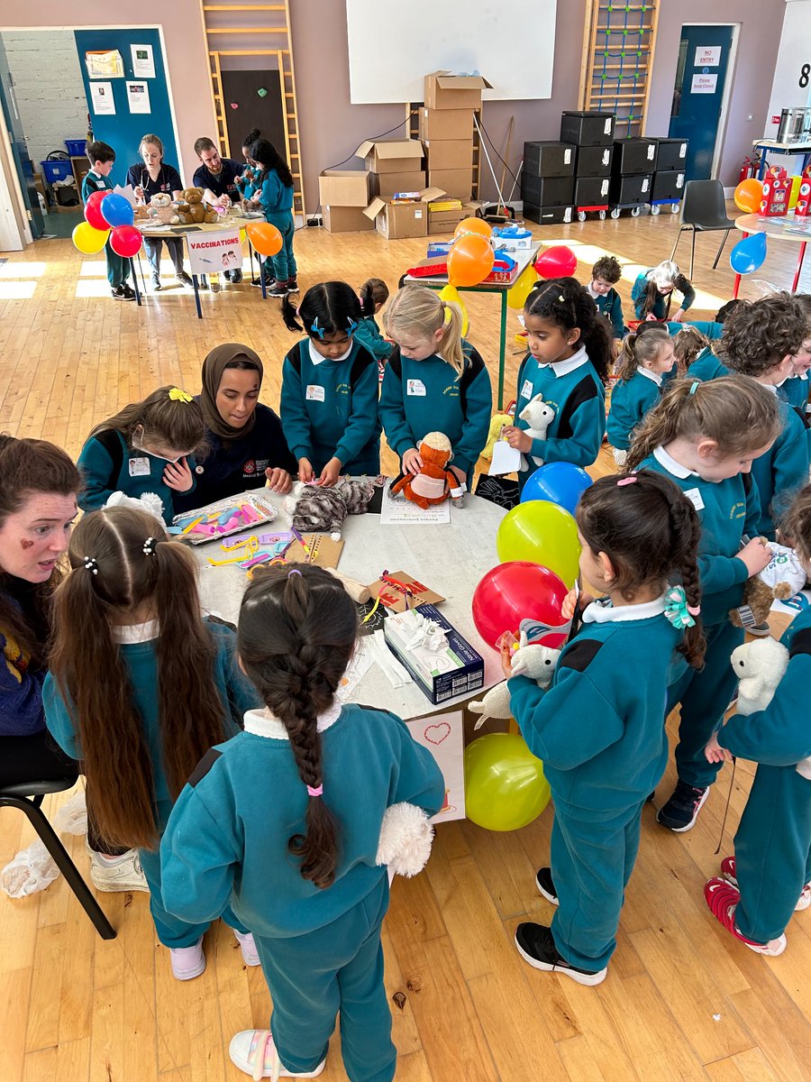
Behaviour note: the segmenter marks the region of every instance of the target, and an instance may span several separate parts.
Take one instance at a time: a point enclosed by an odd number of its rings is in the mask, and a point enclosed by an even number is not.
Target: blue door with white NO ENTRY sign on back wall
[[[706,181],[713,175],[732,29],[731,26],[681,27],[669,135],[690,141],[684,167],[688,181]]]

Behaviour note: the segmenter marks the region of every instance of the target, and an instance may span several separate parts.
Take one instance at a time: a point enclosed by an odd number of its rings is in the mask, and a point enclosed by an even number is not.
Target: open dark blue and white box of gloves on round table
[[[446,645],[434,651],[424,646],[408,648],[426,619],[447,631]],[[484,662],[434,605],[407,612],[393,612],[383,625],[386,644],[406,665],[420,689],[435,704],[469,695],[484,684]]]

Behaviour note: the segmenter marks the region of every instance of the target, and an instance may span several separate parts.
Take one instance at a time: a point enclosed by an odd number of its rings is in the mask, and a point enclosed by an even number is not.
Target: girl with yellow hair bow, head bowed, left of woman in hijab
[[[173,492],[195,489],[192,452],[203,445],[202,411],[178,387],[158,387],[97,424],[79,456],[84,480],[82,511],[97,511],[114,492],[159,497],[165,523],[174,517]]]

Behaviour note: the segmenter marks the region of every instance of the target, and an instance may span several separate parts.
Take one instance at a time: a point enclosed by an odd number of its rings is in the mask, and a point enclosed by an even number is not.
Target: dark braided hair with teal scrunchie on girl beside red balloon
[[[604,552],[611,559],[616,589],[626,601],[642,588],[664,593],[668,579],[679,576],[688,605],[701,608],[696,563],[701,523],[669,477],[652,470],[600,477],[580,498],[576,518],[591,552]],[[701,669],[706,643],[701,617],[693,619],[677,649]]]

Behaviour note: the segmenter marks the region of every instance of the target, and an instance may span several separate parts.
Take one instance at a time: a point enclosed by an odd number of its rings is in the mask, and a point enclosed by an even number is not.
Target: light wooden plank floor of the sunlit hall
[[[626,318],[639,268],[669,258],[678,219],[624,216],[535,227],[546,243],[579,255],[588,280],[603,251],[627,263]],[[710,318],[732,289],[720,238],[699,237],[693,281],[696,318]],[[727,246],[734,242],[734,235]],[[688,241],[680,254],[687,269]],[[387,243],[374,233],[296,235],[303,289],[328,278],[355,286],[374,275],[394,290],[424,241]],[[759,280],[790,285],[797,247],[770,241]],[[109,299],[104,261],[69,240],[6,253],[0,265],[0,430],[38,436],[71,454],[94,422],[162,383],[199,391],[200,362],[214,345],[244,342],[265,361],[263,399],[278,405],[281,360],[297,340],[247,283],[203,294],[204,319],[175,288],[147,294],[143,308]],[[170,267],[167,266],[167,272]],[[800,288],[811,289],[806,272]],[[756,296],[745,280],[743,296]],[[497,362],[498,303],[466,295],[470,338]],[[520,354],[511,344],[507,399]],[[391,466],[389,459],[388,465]],[[594,473],[613,472],[603,450]],[[737,768],[721,855],[732,849],[752,778]],[[662,781],[660,802],[674,781]],[[799,1082],[811,1074],[811,913],[795,916],[788,949],[763,959],[735,942],[709,915],[704,881],[718,871],[727,767],[693,831],[672,834],[647,807],[609,977],[588,989],[537,973],[518,956],[516,925],[548,923],[551,907],[533,878],[548,859],[551,808],[522,831],[493,834],[469,822],[437,831],[427,871],[396,881],[384,928],[387,987],[402,1082]],[[65,794],[67,795],[67,794]],[[53,813],[65,795],[51,801]],[[24,817],[0,815],[0,866],[28,845]],[[83,872],[82,839],[66,844]],[[223,1082],[244,1078],[227,1055],[231,1034],[267,1024],[270,1002],[258,969],[245,969],[230,932],[207,936],[202,977],[181,985],[157,945],[145,894],[101,895],[118,938],[103,942],[57,880],[31,898],[0,899],[0,1079],[2,1082]],[[321,1076],[345,1074],[337,1038]]]

